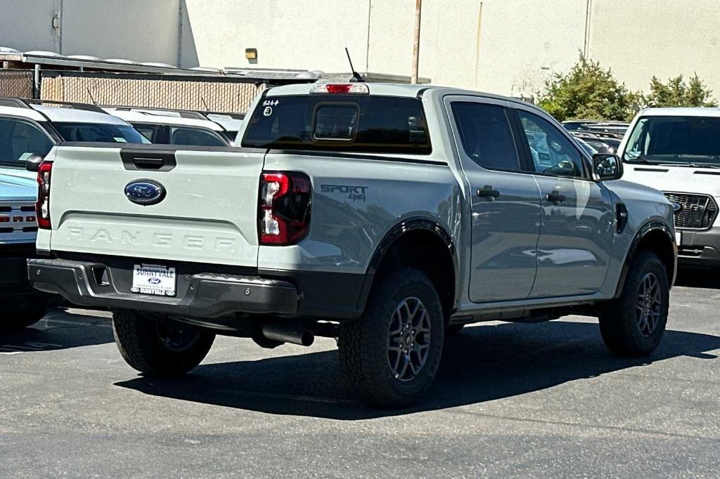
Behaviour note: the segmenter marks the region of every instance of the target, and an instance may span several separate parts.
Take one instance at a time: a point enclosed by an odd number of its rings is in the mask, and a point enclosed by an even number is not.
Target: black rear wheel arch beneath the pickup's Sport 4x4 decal
[[[395,224],[377,245],[368,265],[372,284],[384,268],[392,265],[405,265],[426,273],[440,296],[446,321],[449,319],[459,291],[459,263],[453,237],[443,225],[421,217]]]

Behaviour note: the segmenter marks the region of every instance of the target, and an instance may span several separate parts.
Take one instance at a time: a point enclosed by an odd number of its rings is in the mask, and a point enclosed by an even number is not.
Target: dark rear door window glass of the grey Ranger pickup
[[[490,170],[521,170],[503,106],[456,101],[452,111],[462,147],[474,163]]]

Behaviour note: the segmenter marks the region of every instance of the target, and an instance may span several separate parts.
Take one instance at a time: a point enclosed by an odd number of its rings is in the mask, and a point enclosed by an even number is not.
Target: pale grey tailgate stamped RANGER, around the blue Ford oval
[[[50,247],[255,268],[263,160],[262,152],[229,148],[60,146],[50,183]],[[126,187],[143,180],[161,186],[161,201],[128,198]]]

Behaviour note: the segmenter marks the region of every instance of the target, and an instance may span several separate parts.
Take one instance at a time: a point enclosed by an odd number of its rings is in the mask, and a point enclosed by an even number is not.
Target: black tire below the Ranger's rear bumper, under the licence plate
[[[187,347],[171,350],[158,332],[158,319],[128,309],[112,311],[112,332],[125,362],[140,373],[153,376],[187,373],[202,362],[215,340],[215,334],[197,330],[197,337]]]

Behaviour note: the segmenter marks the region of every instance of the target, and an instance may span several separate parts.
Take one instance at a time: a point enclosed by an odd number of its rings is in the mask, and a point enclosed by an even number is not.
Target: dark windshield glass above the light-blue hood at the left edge
[[[30,122],[0,118],[0,162],[21,164],[30,155],[43,158],[53,148],[47,134]]]

